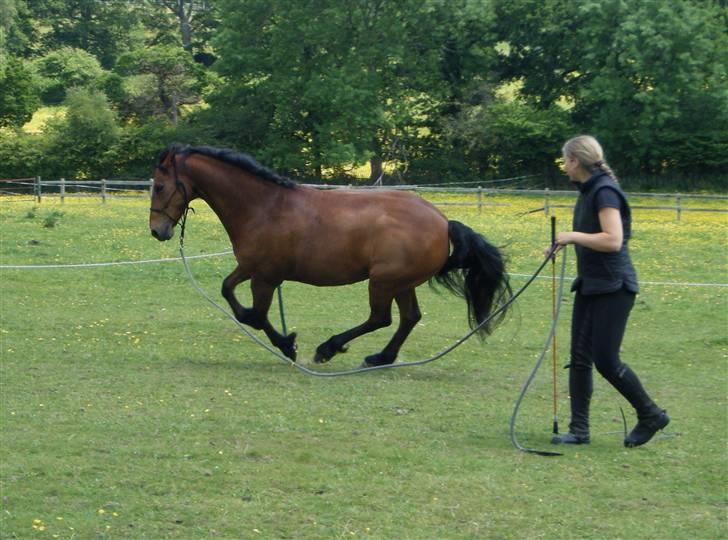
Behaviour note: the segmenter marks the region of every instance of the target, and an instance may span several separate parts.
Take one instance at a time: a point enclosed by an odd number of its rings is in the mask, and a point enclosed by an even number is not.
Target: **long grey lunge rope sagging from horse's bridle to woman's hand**
[[[295,361],[291,360],[287,356],[282,355],[279,351],[271,347],[268,343],[261,340],[258,336],[250,332],[240,321],[238,321],[235,318],[235,315],[230,313],[228,310],[226,310],[224,307],[222,307],[220,304],[215,302],[210,296],[202,289],[200,284],[195,279],[195,276],[192,274],[192,271],[190,270],[189,264],[187,263],[187,258],[185,257],[185,250],[184,250],[184,234],[185,234],[185,224],[187,223],[187,212],[190,210],[188,208],[185,210],[184,216],[182,218],[182,223],[180,227],[180,238],[179,238],[179,254],[180,258],[182,259],[182,264],[184,266],[185,272],[187,273],[187,276],[190,279],[190,282],[192,283],[192,286],[195,288],[195,290],[202,296],[205,300],[207,300],[214,308],[216,308],[218,311],[222,312],[225,316],[227,316],[230,320],[232,320],[250,339],[252,339],[254,342],[256,342],[258,345],[263,347],[265,350],[276,356],[279,360],[283,361],[284,363],[290,365],[291,367],[295,367],[299,371],[307,374],[312,375],[314,377],[343,377],[346,375],[356,375],[359,373],[366,373],[370,371],[380,370],[380,369],[394,369],[394,368],[403,368],[403,367],[413,367],[413,366],[421,366],[424,364],[428,364],[430,362],[434,362],[435,360],[438,360],[445,356],[446,354],[452,352],[457,347],[465,343],[468,339],[470,339],[478,330],[480,330],[483,326],[488,324],[494,317],[496,317],[498,314],[503,312],[509,305],[511,305],[513,302],[515,302],[516,298],[518,298],[531,283],[534,282],[534,280],[538,277],[538,275],[541,273],[541,270],[546,266],[546,264],[549,262],[549,259],[551,259],[553,255],[554,249],[552,248],[549,255],[544,259],[544,261],[541,263],[541,265],[538,267],[538,269],[531,275],[531,277],[526,281],[526,283],[516,291],[513,296],[511,296],[505,303],[501,304],[493,313],[490,314],[488,318],[486,318],[484,321],[482,321],[478,326],[470,330],[467,334],[465,334],[463,337],[455,341],[452,345],[446,347],[439,353],[435,354],[434,356],[431,356],[430,358],[425,358],[424,360],[417,360],[412,362],[400,362],[397,364],[387,364],[383,366],[372,366],[372,367],[366,367],[366,368],[356,368],[356,369],[349,369],[344,371],[316,371],[313,369],[309,369],[306,366],[302,366]],[[193,210],[194,212],[194,210]],[[564,256],[564,262],[566,262],[566,256]],[[563,269],[562,269],[562,278],[563,278]],[[559,293],[560,296],[560,293]],[[549,342],[550,342],[551,336],[549,336]],[[543,360],[543,355],[541,356],[541,359]],[[539,364],[540,364],[539,360]],[[559,454],[560,455],[560,454]]]

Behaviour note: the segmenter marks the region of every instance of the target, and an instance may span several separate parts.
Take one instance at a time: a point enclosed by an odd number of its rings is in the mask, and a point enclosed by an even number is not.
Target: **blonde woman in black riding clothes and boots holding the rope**
[[[577,278],[571,321],[569,432],[554,444],[589,444],[592,365],[637,412],[637,425],[626,447],[648,442],[670,423],[666,411],[650,399],[639,378],[619,358],[627,318],[639,291],[627,243],[631,212],[614,173],[594,137],[582,135],[564,144],[566,174],[579,189],[573,231],[556,236],[556,249],[574,244]]]

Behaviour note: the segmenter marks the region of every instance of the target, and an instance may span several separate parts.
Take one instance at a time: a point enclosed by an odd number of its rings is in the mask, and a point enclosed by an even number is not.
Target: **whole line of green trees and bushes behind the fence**
[[[554,185],[592,133],[633,187],[722,190],[727,29],[710,0],[0,0],[0,177],[148,177],[184,142]]]

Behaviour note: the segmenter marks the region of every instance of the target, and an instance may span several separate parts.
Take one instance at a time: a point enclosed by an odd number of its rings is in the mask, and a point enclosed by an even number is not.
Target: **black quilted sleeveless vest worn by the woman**
[[[583,246],[575,245],[577,278],[571,286],[572,291],[581,294],[605,294],[618,291],[622,287],[637,293],[637,273],[629,257],[627,243],[632,236],[632,212],[627,197],[612,178],[598,172],[589,180],[579,185],[579,199],[574,208],[573,229],[583,233],[601,232],[599,209],[596,207],[596,195],[601,189],[615,191],[622,201],[620,214],[624,237],[622,248],[617,252],[604,253]]]

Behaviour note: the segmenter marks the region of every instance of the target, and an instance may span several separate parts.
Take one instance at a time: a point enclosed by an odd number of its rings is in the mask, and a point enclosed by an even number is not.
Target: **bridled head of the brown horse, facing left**
[[[159,155],[154,172],[152,205],[149,211],[149,229],[157,240],[174,236],[174,226],[187,210],[192,189],[189,179],[180,177],[177,153],[181,148],[170,146]]]

